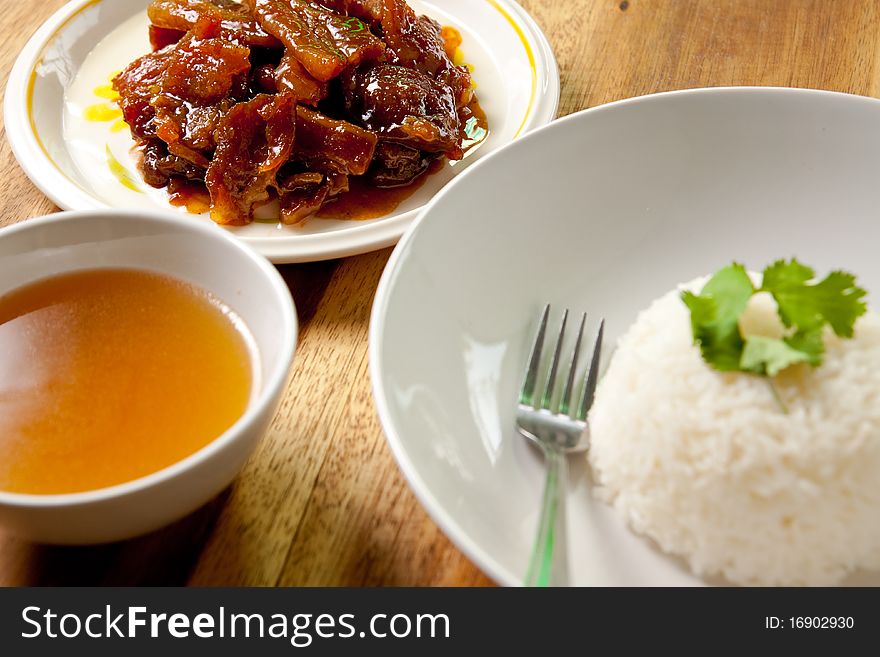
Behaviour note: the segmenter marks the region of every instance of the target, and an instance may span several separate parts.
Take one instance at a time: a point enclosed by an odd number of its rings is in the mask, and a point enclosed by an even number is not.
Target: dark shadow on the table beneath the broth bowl
[[[21,586],[180,586],[211,535],[226,489],[189,516],[152,534],[107,545],[58,547],[18,543]]]

